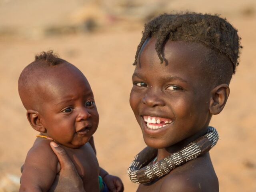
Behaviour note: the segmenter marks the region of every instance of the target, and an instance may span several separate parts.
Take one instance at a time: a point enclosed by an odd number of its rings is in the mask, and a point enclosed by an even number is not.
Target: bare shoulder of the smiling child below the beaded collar
[[[198,192],[219,191],[209,154],[187,162],[168,174],[161,185],[160,192]]]

